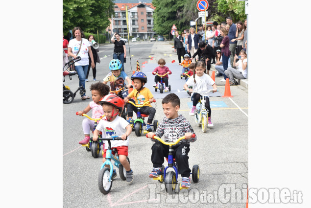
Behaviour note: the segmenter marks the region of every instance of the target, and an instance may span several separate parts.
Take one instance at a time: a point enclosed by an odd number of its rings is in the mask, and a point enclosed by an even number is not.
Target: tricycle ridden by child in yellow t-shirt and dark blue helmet
[[[144,117],[149,116],[149,115],[141,114],[141,107],[149,104],[149,101],[144,102],[144,104],[142,105],[136,105],[132,101],[128,101],[128,102],[131,103],[133,106],[137,107],[137,118],[134,120],[134,124],[131,124],[131,126],[133,128],[133,131],[135,131],[135,135],[137,137],[140,137],[142,136],[142,131],[143,131],[144,126],[146,126],[144,122]],[[155,102],[155,100],[153,102]],[[158,120],[153,120],[153,125],[150,124],[150,126],[153,126],[154,131],[157,130],[158,125],[159,125]],[[144,130],[144,134],[148,134],[148,131]]]

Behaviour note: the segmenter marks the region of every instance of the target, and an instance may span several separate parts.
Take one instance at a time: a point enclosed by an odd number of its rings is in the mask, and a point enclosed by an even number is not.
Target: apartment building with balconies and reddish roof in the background
[[[129,35],[147,39],[153,37],[153,11],[155,7],[152,3],[115,3],[115,17],[110,20],[110,26],[106,29],[113,34],[113,29],[121,37],[127,36],[126,12],[128,12]]]

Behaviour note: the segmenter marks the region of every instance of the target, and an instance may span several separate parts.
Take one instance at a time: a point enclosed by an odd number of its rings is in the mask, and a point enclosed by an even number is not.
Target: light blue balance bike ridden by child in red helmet
[[[112,187],[112,173],[113,173],[113,164],[111,160],[115,162],[115,166],[119,168],[120,178],[125,181],[126,180],[126,170],[121,165],[119,161],[119,155],[116,148],[111,150],[111,140],[122,140],[118,136],[112,136],[111,138],[98,138],[98,140],[106,140],[108,141],[108,149],[106,152],[106,161],[101,165],[100,171],[98,174],[98,188],[101,193],[108,194]],[[127,161],[130,162],[130,159],[126,157]],[[109,165],[110,168],[105,167],[105,165]]]

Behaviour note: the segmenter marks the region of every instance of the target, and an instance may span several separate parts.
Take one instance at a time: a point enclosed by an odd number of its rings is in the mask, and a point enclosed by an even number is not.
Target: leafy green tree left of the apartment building
[[[112,0],[63,0],[63,30],[81,27],[86,32],[102,31],[114,15]]]

